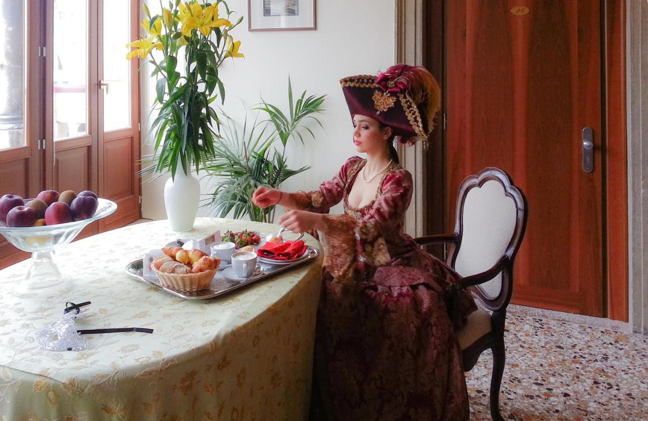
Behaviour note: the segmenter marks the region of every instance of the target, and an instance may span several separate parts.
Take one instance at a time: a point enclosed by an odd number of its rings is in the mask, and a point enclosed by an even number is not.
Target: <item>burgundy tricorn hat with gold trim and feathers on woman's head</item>
[[[429,71],[397,64],[378,76],[349,76],[340,84],[352,117],[366,115],[391,127],[401,143],[421,140],[427,147],[441,106],[441,89]]]

